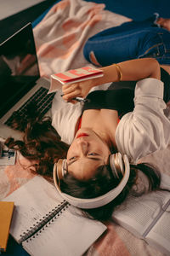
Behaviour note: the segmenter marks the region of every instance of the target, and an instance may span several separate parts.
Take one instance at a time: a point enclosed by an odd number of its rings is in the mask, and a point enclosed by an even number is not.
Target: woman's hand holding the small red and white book
[[[73,99],[76,97],[85,98],[88,95],[89,90],[95,86],[94,80],[95,79],[88,79],[74,84],[63,85],[63,99],[65,102],[74,102]]]

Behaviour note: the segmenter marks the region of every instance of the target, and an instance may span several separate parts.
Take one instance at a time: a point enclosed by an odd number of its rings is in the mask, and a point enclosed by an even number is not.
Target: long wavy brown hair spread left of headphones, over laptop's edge
[[[66,157],[69,146],[60,140],[49,117],[30,119],[18,127],[18,130],[25,131],[23,139],[8,137],[5,144],[18,150],[27,160],[36,160],[32,165],[34,172],[52,180],[54,163]]]

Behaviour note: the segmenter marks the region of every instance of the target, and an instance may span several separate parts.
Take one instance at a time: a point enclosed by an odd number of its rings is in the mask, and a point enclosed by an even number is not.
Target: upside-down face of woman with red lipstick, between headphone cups
[[[81,128],[67,153],[68,172],[80,180],[94,177],[97,167],[108,163],[111,151],[91,129]]]

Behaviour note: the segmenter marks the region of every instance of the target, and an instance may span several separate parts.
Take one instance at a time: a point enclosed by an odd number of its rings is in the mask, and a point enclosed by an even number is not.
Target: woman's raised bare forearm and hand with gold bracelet
[[[89,90],[94,86],[120,81],[138,81],[146,78],[160,79],[160,66],[156,59],[144,58],[131,61],[123,61],[107,67],[101,67],[103,70],[103,77],[97,79],[89,79],[75,84],[65,84],[62,87],[64,93],[64,100],[71,101],[71,99],[79,96],[86,97]]]

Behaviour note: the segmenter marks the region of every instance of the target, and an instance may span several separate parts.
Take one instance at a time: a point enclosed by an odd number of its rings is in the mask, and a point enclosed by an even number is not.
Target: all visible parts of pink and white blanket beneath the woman
[[[82,0],[64,0],[55,4],[34,29],[41,75],[49,77],[52,73],[70,68],[89,66],[82,55],[86,40],[96,32],[118,26],[127,20],[127,17],[105,10],[105,4],[87,3]],[[161,172],[169,174],[169,155],[170,147],[141,161],[153,163]],[[29,164],[18,155],[15,166],[1,166],[0,199],[33,177]],[[121,226],[111,222],[107,223],[107,226],[107,233],[89,248],[87,256],[163,255]]]

